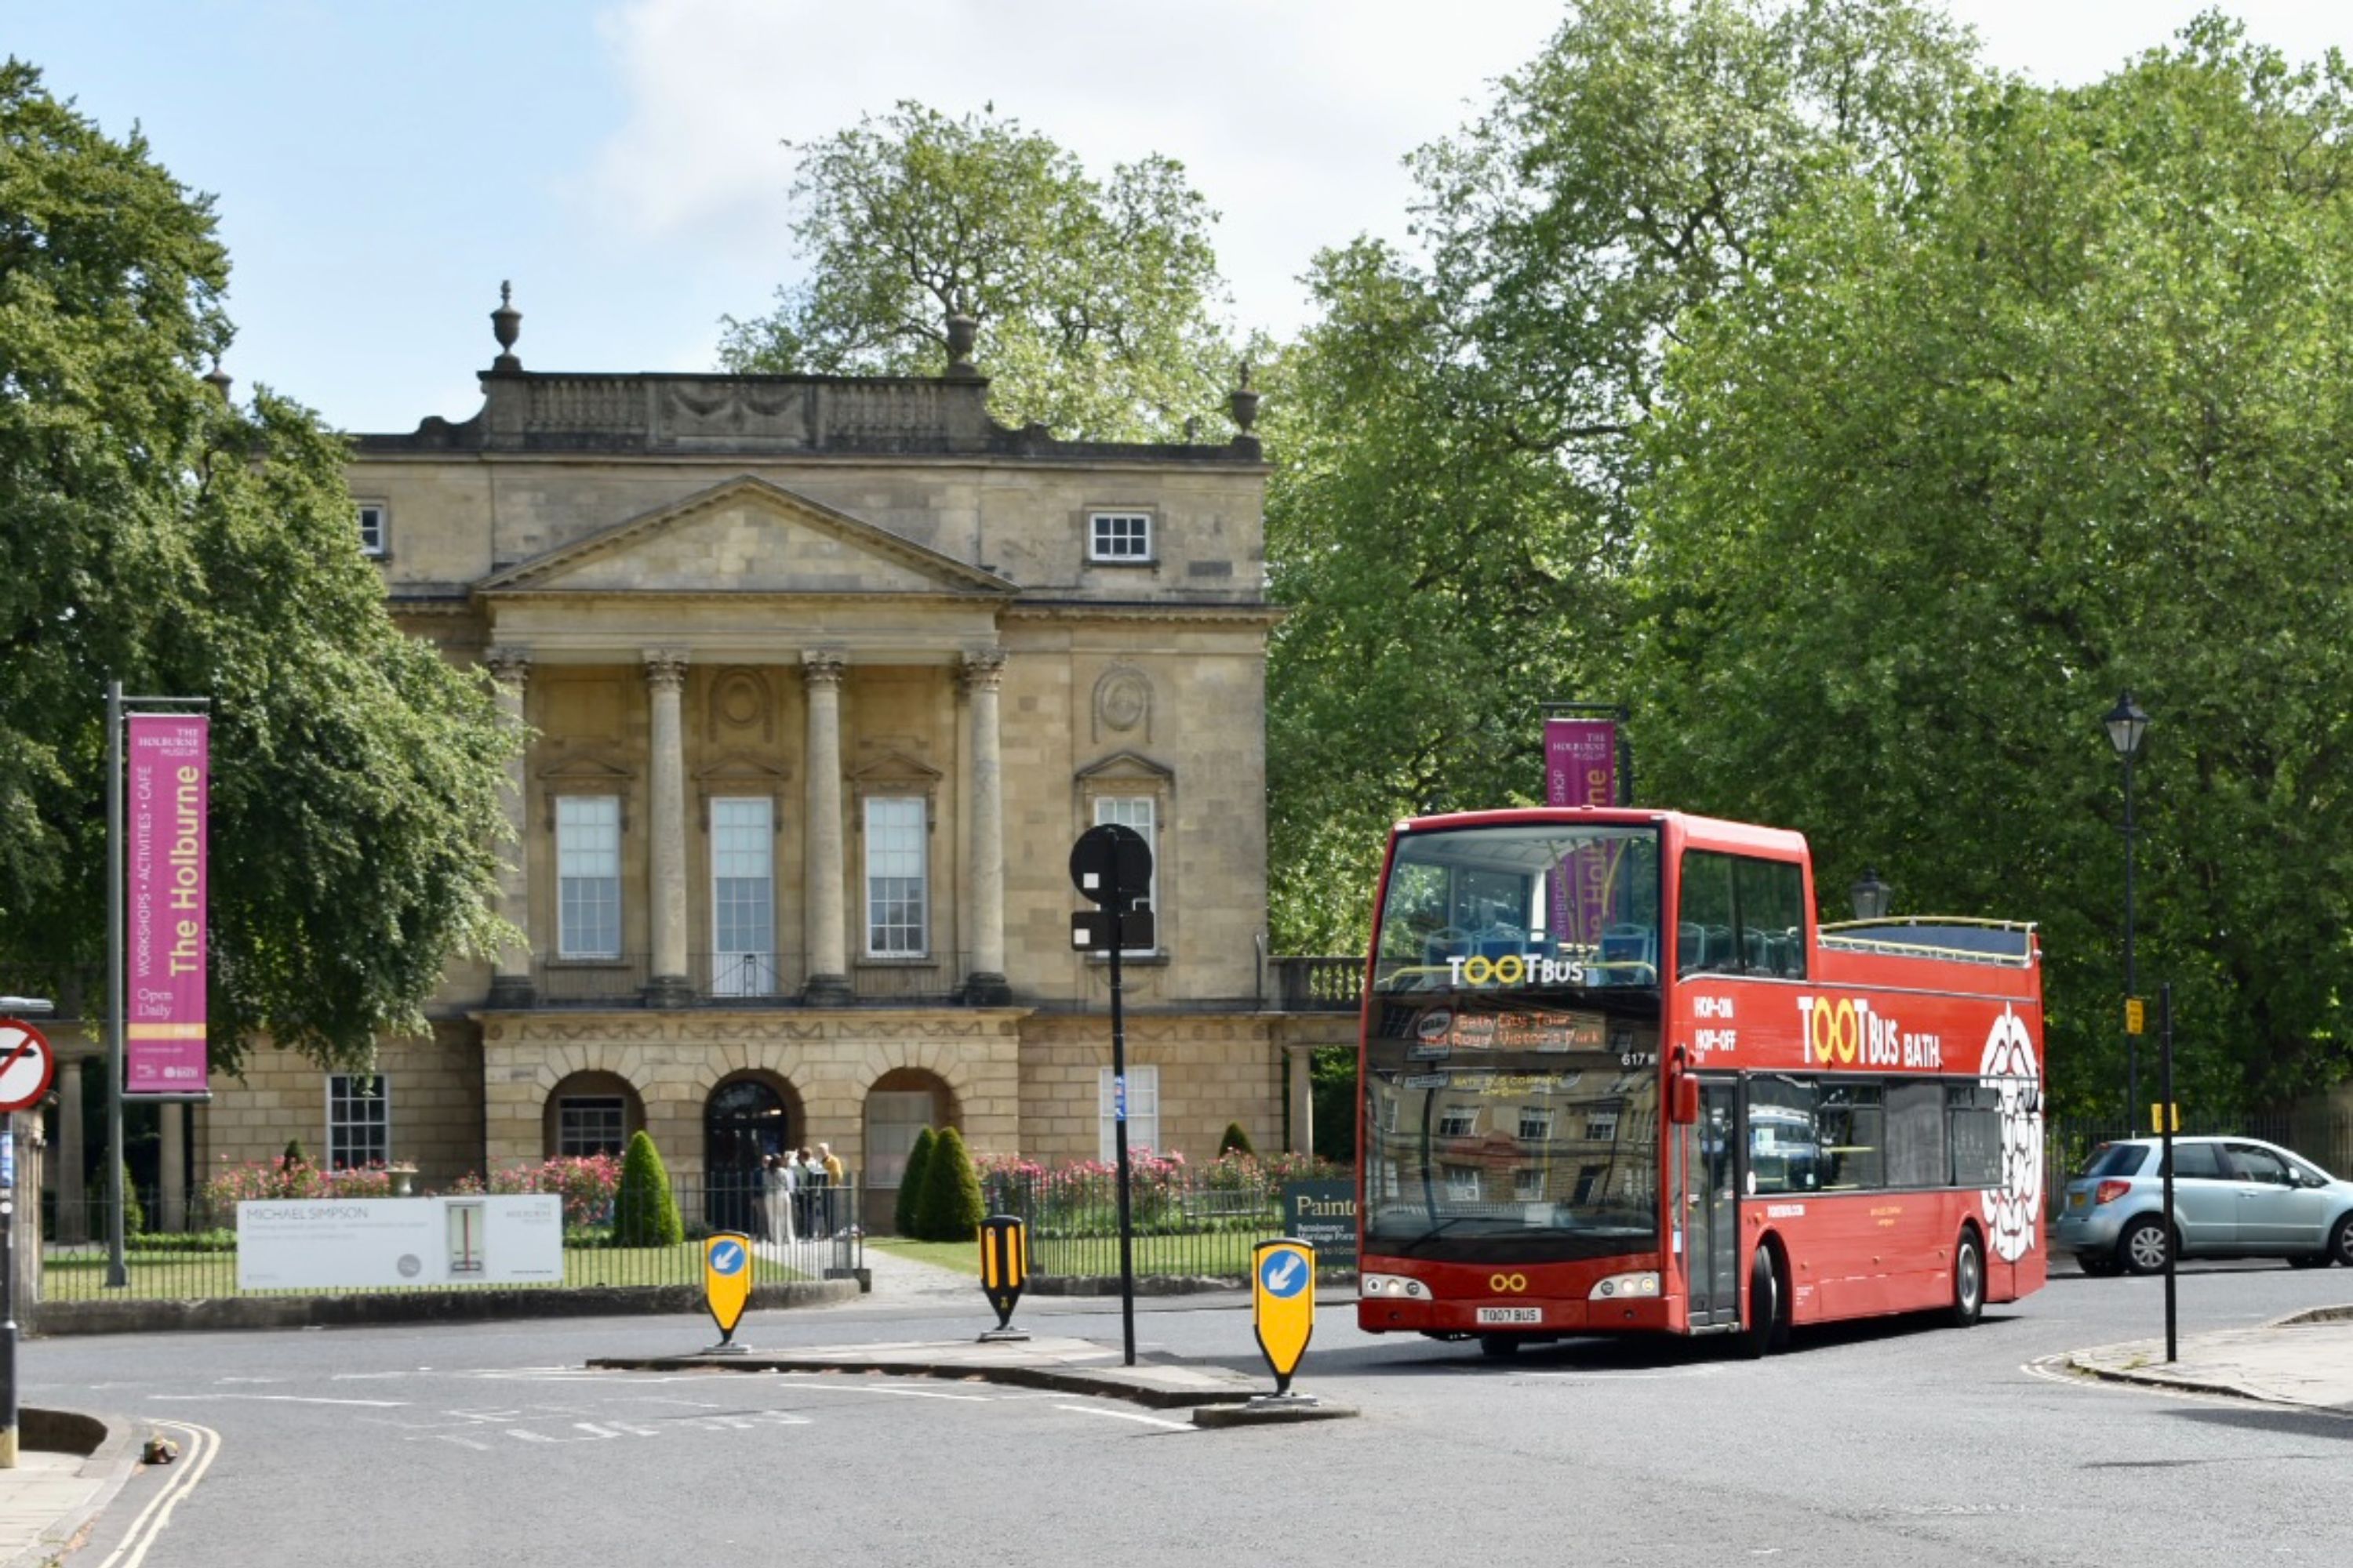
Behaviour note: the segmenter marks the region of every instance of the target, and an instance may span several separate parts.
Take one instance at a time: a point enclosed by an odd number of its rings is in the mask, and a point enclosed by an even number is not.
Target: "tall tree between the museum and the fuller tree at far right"
[[[1682,313],[1826,174],[1908,167],[1969,75],[1908,0],[1584,0],[1412,160],[1417,254],[1318,259],[1266,416],[1278,945],[1362,945],[1388,820],[1541,799],[1537,705],[1626,693]]]

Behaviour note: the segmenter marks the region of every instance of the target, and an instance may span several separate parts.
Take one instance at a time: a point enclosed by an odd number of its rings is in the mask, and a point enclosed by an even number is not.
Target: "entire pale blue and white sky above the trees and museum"
[[[2207,0],[1948,0],[1986,59],[2104,75]],[[2228,5],[2292,59],[2341,0]],[[1475,118],[1562,0],[0,0],[0,52],[212,193],[224,369],[344,430],[480,407],[513,280],[527,369],[711,369],[793,277],[793,150],[993,103],[1089,169],[1165,153],[1219,212],[1240,327],[1311,256],[1405,237],[1402,158]],[[984,367],[986,369],[986,367]]]

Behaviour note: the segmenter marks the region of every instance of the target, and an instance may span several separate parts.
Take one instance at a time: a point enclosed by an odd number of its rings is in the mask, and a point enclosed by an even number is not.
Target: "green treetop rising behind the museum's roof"
[[[991,106],[922,103],[798,148],[807,277],[725,320],[734,371],[936,376],[946,320],[981,327],[1000,423],[1071,440],[1172,440],[1217,414],[1233,350],[1209,244],[1217,214],[1184,165],[1099,181]]]

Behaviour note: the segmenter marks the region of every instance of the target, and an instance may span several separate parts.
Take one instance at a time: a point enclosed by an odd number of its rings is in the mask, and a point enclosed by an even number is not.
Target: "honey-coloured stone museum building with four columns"
[[[1304,1138],[1304,1046],[1353,1016],[1287,1016],[1266,952],[1257,393],[1217,444],[1061,442],[988,418],[967,322],[906,378],[529,371],[518,322],[480,411],[358,437],[351,491],[398,623],[527,736],[499,910],[529,943],[452,969],[374,1077],[259,1046],[160,1107],[165,1201],[289,1138],[447,1185],[645,1128],[682,1190],[831,1143],[871,1220],[922,1126],[1108,1157],[1068,875],[1099,823],[1155,860],[1129,1140]]]

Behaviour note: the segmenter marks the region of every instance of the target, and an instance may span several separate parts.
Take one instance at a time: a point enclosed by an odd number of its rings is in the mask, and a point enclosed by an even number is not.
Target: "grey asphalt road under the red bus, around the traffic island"
[[[2353,1274],[2184,1274],[2184,1328]],[[1118,1302],[1024,1302],[1118,1342]],[[753,1316],[760,1347],[969,1338],[936,1302]],[[2353,1561],[2353,1420],[2085,1385],[2158,1281],[2054,1279],[1967,1333],[1579,1340],[1515,1361],[1325,1307],[1299,1385],[1358,1420],[1193,1432],[1136,1406],[849,1375],[586,1373],[701,1319],[47,1340],[28,1403],[191,1427],[73,1568],[256,1563],[2285,1563]],[[1257,1371],[1247,1305],[1148,1302],[1146,1354]],[[151,1507],[153,1505],[153,1507]]]

